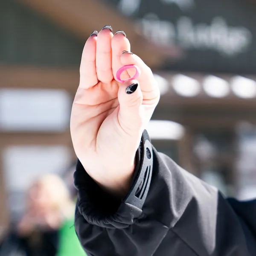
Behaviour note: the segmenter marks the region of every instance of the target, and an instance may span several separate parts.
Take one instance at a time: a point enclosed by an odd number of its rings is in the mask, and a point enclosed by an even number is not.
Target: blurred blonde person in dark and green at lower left
[[[86,256],[74,230],[74,209],[60,177],[41,177],[29,189],[25,214],[10,235],[12,244],[26,256]]]

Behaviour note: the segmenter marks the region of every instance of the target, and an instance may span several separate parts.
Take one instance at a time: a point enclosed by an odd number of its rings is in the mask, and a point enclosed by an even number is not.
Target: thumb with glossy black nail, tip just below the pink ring
[[[138,133],[143,126],[143,94],[139,82],[133,79],[120,84],[118,100],[121,128],[128,134]]]

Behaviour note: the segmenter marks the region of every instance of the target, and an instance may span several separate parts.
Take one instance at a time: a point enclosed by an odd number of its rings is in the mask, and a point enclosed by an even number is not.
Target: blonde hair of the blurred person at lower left
[[[47,174],[36,180],[33,185],[40,185],[48,192],[49,204],[60,211],[65,218],[70,218],[74,214],[74,203],[61,177],[55,174]]]

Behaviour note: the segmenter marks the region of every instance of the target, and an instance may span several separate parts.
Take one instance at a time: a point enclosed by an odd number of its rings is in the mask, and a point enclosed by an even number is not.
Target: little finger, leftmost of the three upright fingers
[[[80,88],[90,88],[98,83],[96,73],[96,41],[98,32],[95,30],[87,39],[80,64]]]

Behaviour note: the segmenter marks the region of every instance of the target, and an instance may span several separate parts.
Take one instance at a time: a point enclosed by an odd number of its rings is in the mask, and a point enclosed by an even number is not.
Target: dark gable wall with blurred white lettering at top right
[[[246,0],[105,0],[159,46],[180,46],[166,69],[256,73],[256,3]]]

